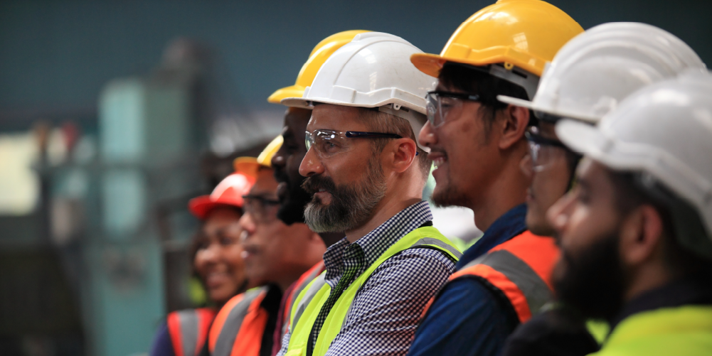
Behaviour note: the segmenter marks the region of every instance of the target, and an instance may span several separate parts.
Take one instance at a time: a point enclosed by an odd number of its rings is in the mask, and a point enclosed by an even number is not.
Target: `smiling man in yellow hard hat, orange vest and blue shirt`
[[[545,63],[582,31],[544,1],[500,0],[462,23],[440,55],[411,57],[438,78],[419,134],[437,167],[431,199],[472,209],[484,235],[427,310],[409,355],[499,355],[552,297],[558,249],[527,229],[530,177],[520,170],[536,120],[497,96],[533,98]]]

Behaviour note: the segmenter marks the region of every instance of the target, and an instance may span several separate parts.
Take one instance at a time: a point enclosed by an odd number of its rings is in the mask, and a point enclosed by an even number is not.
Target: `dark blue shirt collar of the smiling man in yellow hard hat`
[[[468,248],[458,261],[456,268],[463,268],[475,258],[482,256],[499,244],[509,241],[527,230],[526,223],[527,205],[519,204],[513,207],[497,220],[485,231],[483,236],[471,248]]]

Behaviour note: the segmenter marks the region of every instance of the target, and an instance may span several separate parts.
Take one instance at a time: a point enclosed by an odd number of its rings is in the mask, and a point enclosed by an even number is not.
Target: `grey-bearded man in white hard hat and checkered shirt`
[[[323,64],[302,98],[313,108],[299,172],[313,195],[305,221],[345,231],[326,271],[296,298],[279,355],[404,355],[427,301],[460,253],[432,227],[422,189],[431,162],[415,133],[434,78],[422,53],[387,33],[360,33]]]

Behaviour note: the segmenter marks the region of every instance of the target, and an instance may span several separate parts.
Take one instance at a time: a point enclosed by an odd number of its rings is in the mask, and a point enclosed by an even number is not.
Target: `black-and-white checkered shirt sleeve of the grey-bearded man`
[[[426,303],[454,271],[443,253],[414,248],[374,271],[326,355],[405,355]]]

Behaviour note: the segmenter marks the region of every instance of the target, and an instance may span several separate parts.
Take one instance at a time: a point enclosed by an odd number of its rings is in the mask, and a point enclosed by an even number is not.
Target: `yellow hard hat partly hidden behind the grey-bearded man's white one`
[[[309,59],[307,59],[304,66],[302,66],[299,75],[297,75],[297,82],[292,86],[278,89],[267,98],[267,101],[273,104],[279,104],[284,98],[301,98],[304,94],[304,89],[311,85],[319,68],[321,68],[321,65],[331,56],[331,53],[334,53],[346,43],[351,42],[357,34],[364,32],[370,31],[343,31],[324,38],[314,47],[312,53],[309,54]]]

